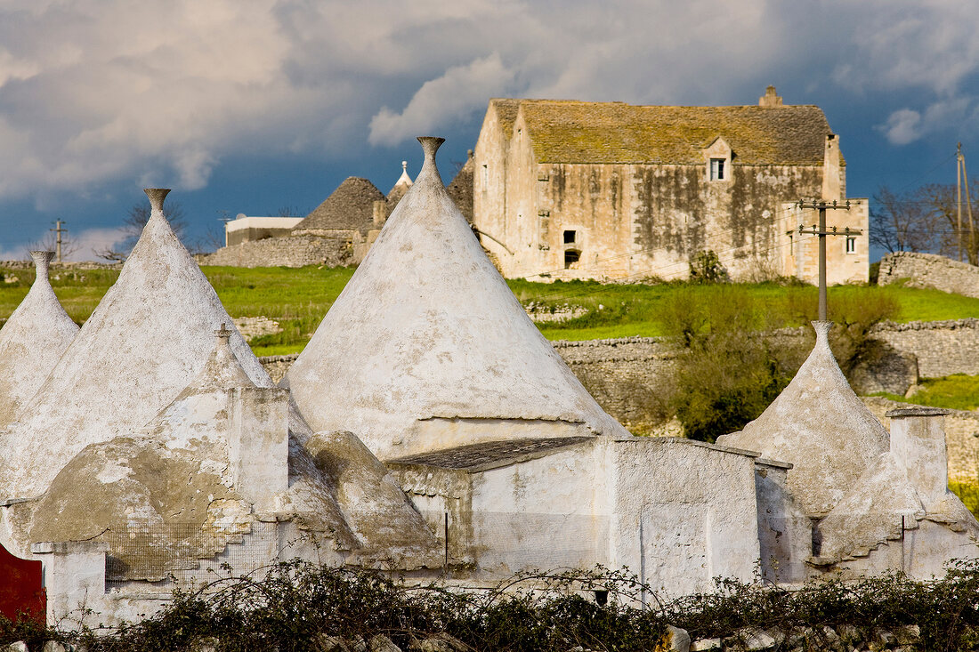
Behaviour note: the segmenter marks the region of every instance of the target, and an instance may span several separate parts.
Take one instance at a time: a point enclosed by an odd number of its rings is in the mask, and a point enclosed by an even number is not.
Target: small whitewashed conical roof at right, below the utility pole
[[[828,321],[813,322],[816,347],[760,417],[718,443],[791,462],[788,485],[810,515],[829,512],[878,455],[889,436],[854,394],[829,349]]]

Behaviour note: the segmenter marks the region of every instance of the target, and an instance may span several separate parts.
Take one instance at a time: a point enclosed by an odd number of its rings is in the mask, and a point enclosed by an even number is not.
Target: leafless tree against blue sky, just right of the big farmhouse
[[[870,210],[870,243],[894,252],[933,252],[941,248],[941,224],[920,191],[894,193],[881,186]]]

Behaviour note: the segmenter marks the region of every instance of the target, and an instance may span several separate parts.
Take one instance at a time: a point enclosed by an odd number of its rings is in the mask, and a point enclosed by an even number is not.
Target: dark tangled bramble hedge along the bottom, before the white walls
[[[595,590],[608,591],[605,606],[592,597]],[[262,580],[225,578],[178,593],[162,613],[114,630],[43,631],[0,618],[0,644],[60,639],[89,652],[164,652],[207,643],[227,652],[286,652],[328,649],[324,636],[354,641],[384,634],[404,650],[413,641],[443,636],[487,652],[565,652],[576,646],[625,652],[653,649],[672,625],[693,639],[765,629],[779,641],[769,649],[824,650],[841,649],[841,637],[851,641],[845,649],[864,649],[857,639],[917,626],[919,634],[904,649],[969,650],[979,646],[976,595],[976,561],[956,562],[933,582],[900,573],[798,590],[725,581],[714,593],[675,601],[661,601],[649,586],[600,567],[527,574],[494,590],[466,592],[294,561],[273,567]]]

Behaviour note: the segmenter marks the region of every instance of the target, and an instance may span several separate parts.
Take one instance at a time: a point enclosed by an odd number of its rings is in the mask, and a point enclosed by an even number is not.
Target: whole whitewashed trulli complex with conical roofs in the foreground
[[[469,587],[603,564],[652,603],[756,567],[783,584],[928,578],[977,556],[943,412],[892,413],[888,435],[827,324],[722,444],[630,435],[485,255],[443,186],[442,139],[420,140],[418,178],[278,386],[148,191],[117,283],[58,359],[38,356],[46,377],[0,427],[0,582],[26,564],[52,622],[113,625],[222,565],[293,558]],[[35,286],[50,297],[43,273]],[[25,303],[19,319],[63,321]],[[46,348],[20,333],[18,355]]]

